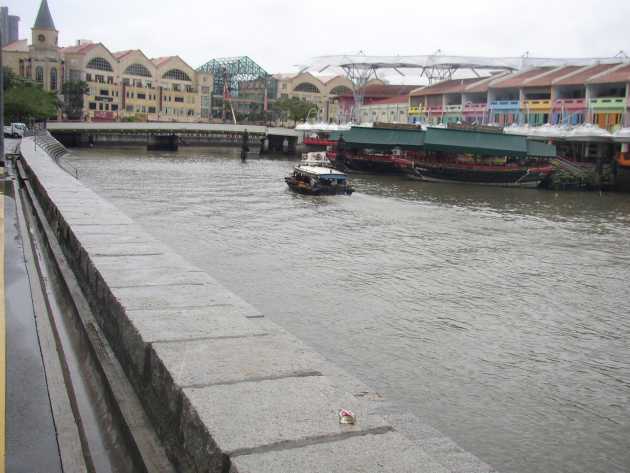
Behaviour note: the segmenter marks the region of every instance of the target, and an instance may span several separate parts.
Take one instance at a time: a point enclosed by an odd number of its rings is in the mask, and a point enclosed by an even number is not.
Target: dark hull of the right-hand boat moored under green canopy
[[[550,170],[547,168],[517,168],[498,171],[416,164],[408,171],[408,174],[427,182],[534,188],[540,186],[549,172]]]

